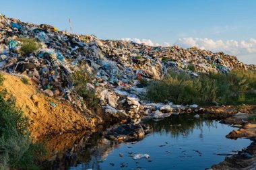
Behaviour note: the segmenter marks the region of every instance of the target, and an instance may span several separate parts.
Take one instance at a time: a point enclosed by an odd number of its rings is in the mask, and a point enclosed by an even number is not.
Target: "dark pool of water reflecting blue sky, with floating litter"
[[[144,123],[152,133],[143,140],[118,144],[95,134],[75,154],[55,162],[54,169],[205,169],[251,143],[225,137],[236,128],[193,115]],[[150,159],[133,160],[136,153],[148,154]]]

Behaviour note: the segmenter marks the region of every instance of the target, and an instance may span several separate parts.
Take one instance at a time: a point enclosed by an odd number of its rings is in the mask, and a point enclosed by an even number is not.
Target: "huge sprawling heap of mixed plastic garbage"
[[[162,79],[168,70],[197,76],[253,68],[222,52],[98,40],[96,36],[69,34],[53,26],[28,24],[4,15],[0,15],[0,28],[1,71],[26,75],[46,95],[87,110],[83,98],[75,93],[71,78],[83,65],[88,73],[95,73],[88,88],[100,97],[104,114],[131,123],[140,122],[141,116],[158,119],[172,112],[199,109],[198,105],[142,101],[141,95],[146,92],[142,81]],[[35,38],[40,43],[39,50],[22,55],[19,38]]]

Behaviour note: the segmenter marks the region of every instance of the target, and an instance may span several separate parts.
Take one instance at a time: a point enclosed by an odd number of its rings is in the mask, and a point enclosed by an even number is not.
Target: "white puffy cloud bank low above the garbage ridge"
[[[196,46],[203,50],[210,50],[212,52],[224,52],[226,54],[238,56],[243,62],[256,64],[256,39],[249,40],[212,40],[210,38],[179,38],[174,44],[164,42],[158,44],[152,42],[150,39],[139,38],[122,38],[125,41],[133,41],[139,44],[144,43],[149,46],[181,46],[183,48],[191,48]],[[245,56],[243,58],[243,56]]]

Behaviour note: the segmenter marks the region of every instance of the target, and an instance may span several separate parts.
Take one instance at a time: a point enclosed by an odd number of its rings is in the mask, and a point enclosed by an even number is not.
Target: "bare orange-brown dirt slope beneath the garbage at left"
[[[16,105],[31,122],[32,136],[94,130],[94,119],[86,118],[71,103],[47,97],[31,81],[25,84],[20,77],[4,75],[3,88],[16,99]]]

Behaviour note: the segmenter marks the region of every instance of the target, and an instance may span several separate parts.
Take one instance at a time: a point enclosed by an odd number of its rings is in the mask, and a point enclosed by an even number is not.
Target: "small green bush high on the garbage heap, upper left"
[[[35,38],[20,38],[22,45],[20,47],[21,54],[28,55],[40,48]]]

